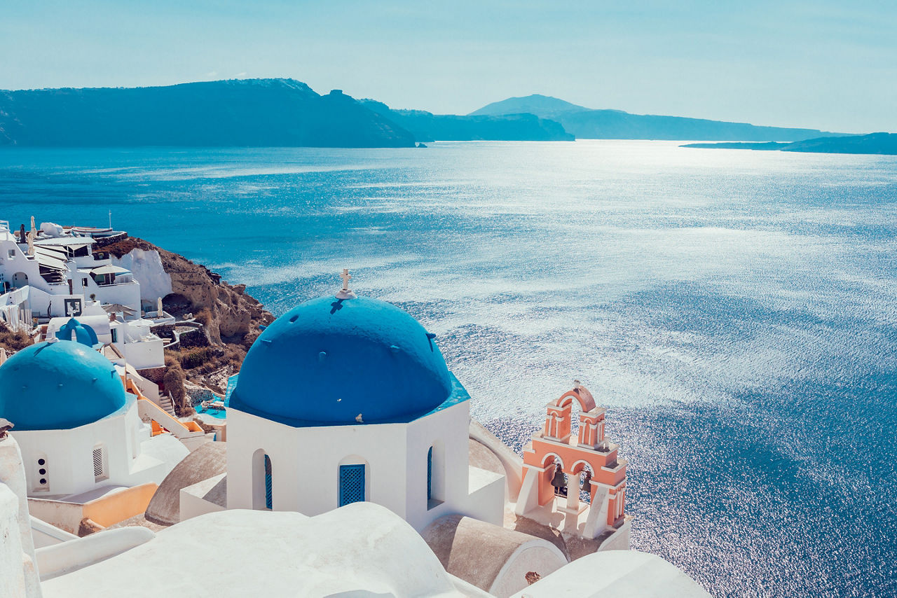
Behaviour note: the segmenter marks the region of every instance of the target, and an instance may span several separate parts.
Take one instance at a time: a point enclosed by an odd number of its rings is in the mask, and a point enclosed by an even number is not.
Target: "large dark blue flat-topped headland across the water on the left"
[[[0,91],[0,145],[412,147],[401,126],[342,92],[292,79],[132,89]]]

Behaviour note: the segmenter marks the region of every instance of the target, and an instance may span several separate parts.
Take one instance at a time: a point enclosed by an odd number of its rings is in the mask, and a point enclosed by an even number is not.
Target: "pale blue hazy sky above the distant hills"
[[[897,132],[897,2],[0,0],[0,89],[292,77],[466,114],[588,108]]]

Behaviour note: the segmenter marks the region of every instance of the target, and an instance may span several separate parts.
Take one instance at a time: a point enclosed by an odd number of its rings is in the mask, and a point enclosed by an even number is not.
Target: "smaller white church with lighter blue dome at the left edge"
[[[12,421],[32,497],[158,484],[187,454],[152,436],[115,366],[82,342],[39,342],[0,367],[0,417]]]

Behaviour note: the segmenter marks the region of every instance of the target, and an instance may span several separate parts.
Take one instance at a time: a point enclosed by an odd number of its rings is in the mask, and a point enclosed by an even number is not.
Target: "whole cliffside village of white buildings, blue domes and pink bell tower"
[[[0,221],[0,595],[708,595],[630,550],[628,463],[579,381],[521,456],[347,270],[274,319],[205,269],[175,292],[171,256]],[[185,390],[208,351],[238,362]]]

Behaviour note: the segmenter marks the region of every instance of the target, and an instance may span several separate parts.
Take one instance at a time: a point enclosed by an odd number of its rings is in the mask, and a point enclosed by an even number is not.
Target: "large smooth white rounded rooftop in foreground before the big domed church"
[[[74,542],[86,547],[121,531]],[[239,509],[198,516],[41,585],[44,598],[488,595],[449,576],[411,525],[369,502],[315,517]]]

